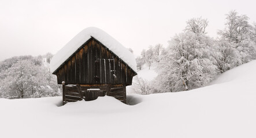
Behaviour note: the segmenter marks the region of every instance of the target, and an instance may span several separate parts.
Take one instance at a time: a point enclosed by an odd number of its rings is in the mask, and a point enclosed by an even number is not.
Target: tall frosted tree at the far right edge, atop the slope
[[[239,52],[240,64],[256,59],[255,41],[252,39],[253,26],[248,19],[246,15],[239,15],[235,10],[230,11],[226,17],[225,28],[218,32],[221,39],[229,41]]]

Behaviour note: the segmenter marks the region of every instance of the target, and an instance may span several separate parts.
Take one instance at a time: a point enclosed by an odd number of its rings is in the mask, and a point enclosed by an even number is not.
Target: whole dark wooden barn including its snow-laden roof
[[[126,86],[136,75],[133,54],[98,28],[82,30],[51,59],[62,84],[63,104],[109,95],[126,103]]]

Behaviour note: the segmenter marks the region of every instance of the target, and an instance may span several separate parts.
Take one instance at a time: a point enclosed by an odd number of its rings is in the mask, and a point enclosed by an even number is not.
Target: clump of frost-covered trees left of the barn
[[[42,56],[20,56],[0,62],[0,96],[36,98],[61,95],[56,76],[42,61]]]

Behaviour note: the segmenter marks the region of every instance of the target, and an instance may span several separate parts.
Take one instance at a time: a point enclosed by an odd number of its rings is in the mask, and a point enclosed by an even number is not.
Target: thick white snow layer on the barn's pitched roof
[[[82,30],[71,41],[69,41],[63,48],[58,51],[51,59],[50,68],[51,72],[54,72],[64,63],[77,49],[81,47],[87,40],[94,37],[100,41],[103,45],[110,49],[120,59],[122,59],[133,71],[137,71],[136,60],[127,48],[120,44],[112,36],[104,32],[103,30],[95,27],[90,27]]]

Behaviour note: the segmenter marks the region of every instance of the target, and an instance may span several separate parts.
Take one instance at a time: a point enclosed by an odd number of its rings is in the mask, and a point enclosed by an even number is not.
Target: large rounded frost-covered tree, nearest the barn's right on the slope
[[[167,77],[162,84],[169,85],[171,91],[183,91],[209,83],[216,74],[209,48],[212,45],[212,40],[204,34],[185,32],[173,37],[158,67],[160,75]]]

